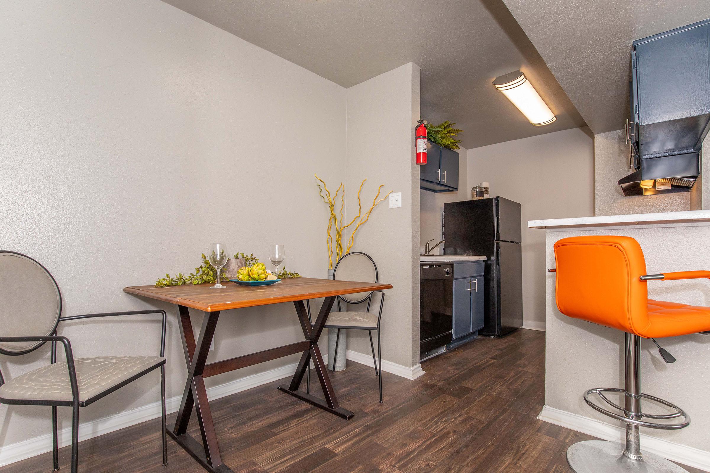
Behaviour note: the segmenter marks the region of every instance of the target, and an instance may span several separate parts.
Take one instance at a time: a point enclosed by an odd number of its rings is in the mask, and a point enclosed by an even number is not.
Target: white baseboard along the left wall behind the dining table
[[[326,365],[328,364],[327,354],[323,355],[323,362]],[[293,363],[291,365],[285,365],[283,367],[270,369],[265,372],[251,374],[250,376],[234,379],[234,381],[212,386],[207,389],[207,398],[210,400],[219,399],[224,396],[229,396],[229,394],[246,391],[246,389],[251,389],[256,386],[261,386],[262,384],[274,382],[277,379],[289,377],[293,375],[293,372],[295,372],[296,366],[297,363]],[[313,367],[312,363],[311,367]],[[178,408],[180,408],[180,401],[182,400],[181,398],[182,396],[173,396],[169,399],[165,399],[165,410],[168,411],[168,413],[178,411]],[[132,411],[117,413],[115,416],[80,423],[79,441],[81,442],[82,440],[98,437],[99,435],[104,435],[104,433],[114,432],[115,430],[130,427],[131,425],[150,421],[151,419],[159,417],[160,401],[155,401],[151,404],[146,404],[146,406],[133,409]],[[155,426],[155,429],[159,430],[158,425]],[[52,450],[52,433],[49,416],[47,418],[47,430],[47,434],[40,435],[39,437],[22,440],[21,442],[13,443],[11,445],[0,445],[0,467],[6,464],[19,462],[20,460],[25,460],[26,458],[34,457],[45,452],[50,452]],[[72,443],[71,427],[63,428],[59,431],[58,435],[60,447],[70,445]]]

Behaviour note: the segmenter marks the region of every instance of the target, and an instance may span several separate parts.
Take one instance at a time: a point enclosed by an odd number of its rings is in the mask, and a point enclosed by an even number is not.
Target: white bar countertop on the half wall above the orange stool
[[[530,220],[528,221],[528,227],[555,230],[563,228],[634,227],[646,225],[679,226],[698,223],[710,223],[710,210]]]

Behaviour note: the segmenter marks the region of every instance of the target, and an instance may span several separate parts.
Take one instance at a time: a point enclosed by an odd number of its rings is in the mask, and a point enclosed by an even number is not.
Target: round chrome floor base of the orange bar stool
[[[630,460],[623,455],[623,449],[621,443],[586,440],[567,449],[567,462],[574,473],[688,473],[649,452],[641,452],[643,460]]]

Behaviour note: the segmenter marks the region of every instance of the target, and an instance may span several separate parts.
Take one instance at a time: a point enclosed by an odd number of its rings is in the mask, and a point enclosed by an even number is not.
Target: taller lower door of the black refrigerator
[[[498,247],[499,335],[523,326],[523,257],[520,243],[496,243]]]

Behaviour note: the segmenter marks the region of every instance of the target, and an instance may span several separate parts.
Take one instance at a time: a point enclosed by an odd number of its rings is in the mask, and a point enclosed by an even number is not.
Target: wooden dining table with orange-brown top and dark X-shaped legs
[[[185,389],[182,392],[182,401],[180,402],[175,426],[173,430],[168,429],[166,425],[163,425],[163,428],[204,469],[214,473],[229,473],[232,470],[222,462],[222,454],[219,451],[219,443],[217,441],[217,430],[214,428],[212,411],[209,408],[207,391],[204,387],[204,379],[300,353],[301,357],[290,383],[281,384],[277,386],[277,389],[336,416],[346,420],[350,419],[353,417],[353,413],[338,404],[335,391],[328,377],[328,370],[324,365],[323,357],[318,348],[318,340],[327,321],[328,314],[338,296],[392,288],[391,284],[378,282],[353,282],[309,277],[282,279],[277,284],[268,286],[242,286],[234,282],[225,282],[224,284],[226,286],[224,289],[212,289],[210,284],[186,284],[169,287],[128,286],[124,288],[124,291],[129,294],[157,299],[158,301],[178,306],[178,318],[180,321],[178,326],[180,327],[182,348],[185,352],[187,379],[185,380]],[[310,313],[307,311],[304,301],[320,298],[324,298],[323,304],[315,322],[311,323]],[[244,307],[271,306],[271,304],[283,302],[293,302],[295,305],[304,340],[249,353],[248,355],[207,363],[209,347],[212,344],[217,321],[222,311]],[[197,340],[195,340],[195,332],[192,330],[192,321],[190,320],[191,308],[197,311],[204,311],[202,328],[199,335],[197,335]],[[239,317],[239,315],[239,311],[231,311],[227,316]],[[315,367],[324,399],[312,396],[312,394],[299,389],[305,373],[310,369],[311,361]],[[190,421],[193,407],[200,426],[202,445],[187,433],[187,423]]]

